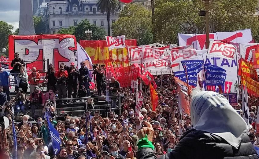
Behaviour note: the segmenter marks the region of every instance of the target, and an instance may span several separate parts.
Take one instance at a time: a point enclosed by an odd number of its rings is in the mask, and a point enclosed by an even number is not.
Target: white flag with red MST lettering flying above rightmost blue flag
[[[209,42],[208,57],[222,57],[226,59],[233,59],[235,55],[235,46],[226,44],[224,42]]]

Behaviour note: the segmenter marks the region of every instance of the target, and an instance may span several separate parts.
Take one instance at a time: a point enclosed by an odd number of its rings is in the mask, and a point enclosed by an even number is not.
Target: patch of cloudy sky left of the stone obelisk
[[[0,2],[0,20],[12,24],[14,32],[19,27],[20,0],[0,0]]]

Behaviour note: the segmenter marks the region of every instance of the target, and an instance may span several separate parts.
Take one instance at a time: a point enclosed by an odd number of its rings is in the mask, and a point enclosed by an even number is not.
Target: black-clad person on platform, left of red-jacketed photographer
[[[47,82],[47,89],[49,90],[50,87],[53,87],[53,91],[55,92],[57,90],[56,81],[57,79],[55,77],[54,66],[50,63],[45,77],[45,82]]]

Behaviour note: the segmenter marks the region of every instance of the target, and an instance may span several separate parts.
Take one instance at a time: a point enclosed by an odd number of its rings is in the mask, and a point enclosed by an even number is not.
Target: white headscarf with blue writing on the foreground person
[[[212,91],[199,92],[192,97],[191,121],[194,129],[220,136],[236,149],[248,129],[228,99]]]

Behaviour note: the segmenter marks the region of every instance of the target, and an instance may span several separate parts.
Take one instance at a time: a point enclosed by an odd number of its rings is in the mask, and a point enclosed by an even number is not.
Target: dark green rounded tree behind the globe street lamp
[[[86,30],[92,30],[92,37],[87,36],[85,34]],[[74,35],[76,36],[76,40],[103,40],[105,38],[105,30],[101,27],[97,27],[94,24],[90,24],[87,19],[82,20],[81,23],[77,25],[74,31]]]

